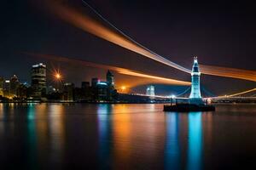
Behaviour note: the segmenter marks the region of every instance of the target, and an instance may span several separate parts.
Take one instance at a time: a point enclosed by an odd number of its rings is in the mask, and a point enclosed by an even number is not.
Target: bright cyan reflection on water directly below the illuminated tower
[[[202,123],[201,112],[189,113],[188,170],[201,169],[202,163]]]

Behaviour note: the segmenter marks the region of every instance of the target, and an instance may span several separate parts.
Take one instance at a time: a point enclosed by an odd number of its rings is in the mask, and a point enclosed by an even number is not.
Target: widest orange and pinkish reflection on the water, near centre
[[[145,105],[113,107],[113,153],[118,168],[129,164],[134,156],[143,156],[146,162],[154,160],[160,156],[160,150],[164,150],[166,127],[165,123],[161,123],[164,116],[155,112],[155,105],[146,107],[147,113]],[[151,123],[150,126],[148,123]]]

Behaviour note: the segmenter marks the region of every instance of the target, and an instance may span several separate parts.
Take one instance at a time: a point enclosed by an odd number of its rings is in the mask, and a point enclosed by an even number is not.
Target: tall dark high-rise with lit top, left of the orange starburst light
[[[32,97],[41,98],[46,94],[46,65],[32,65]]]

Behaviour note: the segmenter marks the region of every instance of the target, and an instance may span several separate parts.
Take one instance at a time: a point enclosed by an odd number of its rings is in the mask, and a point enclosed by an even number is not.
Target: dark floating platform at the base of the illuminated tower
[[[215,111],[214,105],[193,105],[193,104],[177,104],[177,105],[164,105],[164,111]]]

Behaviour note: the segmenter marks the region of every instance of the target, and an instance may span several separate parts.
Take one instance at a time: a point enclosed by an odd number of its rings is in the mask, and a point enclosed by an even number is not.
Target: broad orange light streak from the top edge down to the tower
[[[75,8],[65,5],[65,3],[61,3],[60,0],[48,0],[48,7],[51,11],[56,14],[61,20],[67,21],[67,23],[76,26],[83,31],[87,31],[90,34],[95,35],[96,37],[101,37],[108,42],[113,42],[116,45],[119,45],[123,48],[129,49],[137,54],[142,54],[149,59],[154,59],[162,64],[172,66],[177,70],[184,71],[190,73],[189,69],[184,68],[181,65],[177,65],[172,61],[165,59],[159,54],[155,54],[148,48],[143,47],[141,44],[135,42],[130,37],[126,36],[121,31],[113,31],[112,29],[104,26],[97,20],[90,18],[89,16],[82,14]],[[111,25],[113,26],[113,25]]]

